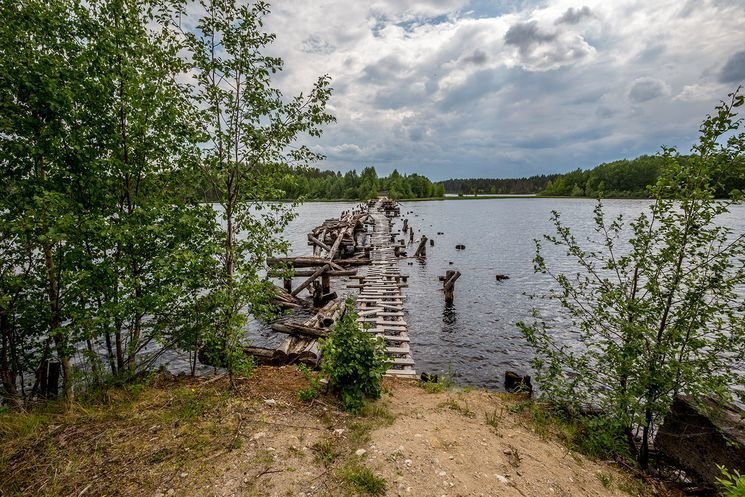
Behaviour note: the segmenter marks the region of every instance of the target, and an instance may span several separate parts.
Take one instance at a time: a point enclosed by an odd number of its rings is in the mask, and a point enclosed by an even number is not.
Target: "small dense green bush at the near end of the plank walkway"
[[[359,412],[365,398],[380,398],[388,369],[385,344],[360,328],[352,299],[331,335],[321,342],[321,352],[321,372],[345,410]]]

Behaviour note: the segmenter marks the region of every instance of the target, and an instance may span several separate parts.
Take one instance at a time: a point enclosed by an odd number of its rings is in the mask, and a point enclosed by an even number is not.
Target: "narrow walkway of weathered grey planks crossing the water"
[[[408,277],[401,275],[398,267],[397,242],[395,233],[391,232],[391,217],[397,214],[397,208],[391,205],[387,199],[378,199],[368,207],[369,218],[374,223],[370,235],[370,266],[367,274],[352,276],[359,284],[349,287],[360,289],[356,299],[360,324],[386,342],[391,357],[388,374],[416,377],[401,293],[402,288],[408,287]]]

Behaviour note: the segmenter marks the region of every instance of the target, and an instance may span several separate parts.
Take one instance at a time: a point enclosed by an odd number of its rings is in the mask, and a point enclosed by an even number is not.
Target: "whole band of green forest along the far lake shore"
[[[680,161],[692,160],[681,155]],[[394,170],[379,177],[374,167],[360,173],[288,168],[277,185],[277,200],[303,199],[312,202],[359,201],[385,194],[401,201],[468,200],[496,198],[592,198],[650,199],[650,188],[660,179],[666,158],[641,155],[576,169],[561,174],[542,174],[523,178],[461,178],[432,181],[420,174],[401,174]],[[740,164],[734,164],[742,168]],[[714,178],[716,198],[731,198],[732,192],[745,190],[745,172],[737,167],[723,169]],[[208,194],[208,198],[211,198]]]

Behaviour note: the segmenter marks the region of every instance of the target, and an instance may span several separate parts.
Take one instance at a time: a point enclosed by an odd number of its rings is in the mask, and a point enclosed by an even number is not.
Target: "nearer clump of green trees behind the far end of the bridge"
[[[344,174],[317,168],[288,168],[279,180],[278,189],[282,199],[367,200],[381,192],[395,199],[445,195],[441,184],[432,183],[420,174],[400,174],[394,169],[389,176],[378,177],[374,167]]]

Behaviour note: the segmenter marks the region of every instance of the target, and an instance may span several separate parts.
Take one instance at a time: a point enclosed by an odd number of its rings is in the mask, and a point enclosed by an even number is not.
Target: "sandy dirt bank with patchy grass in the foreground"
[[[653,495],[536,431],[511,396],[386,380],[353,416],[299,400],[305,387],[294,368],[259,368],[236,389],[168,379],[33,422],[4,414],[0,495]]]

